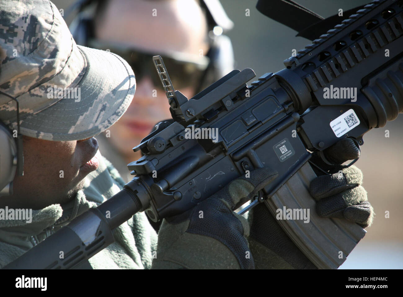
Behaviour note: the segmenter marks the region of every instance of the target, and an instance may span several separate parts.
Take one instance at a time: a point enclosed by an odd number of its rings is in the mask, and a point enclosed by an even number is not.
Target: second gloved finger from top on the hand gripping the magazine
[[[345,190],[357,187],[362,183],[362,172],[356,166],[351,165],[343,171],[331,175],[316,177],[310,185],[309,191],[312,197],[318,199],[334,196]]]

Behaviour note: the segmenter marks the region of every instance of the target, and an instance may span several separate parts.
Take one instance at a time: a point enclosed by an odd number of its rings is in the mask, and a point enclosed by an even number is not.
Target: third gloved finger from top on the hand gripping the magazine
[[[320,217],[343,218],[344,210],[347,207],[357,205],[365,200],[367,200],[366,191],[363,187],[358,186],[343,193],[319,200],[316,203],[316,212]]]

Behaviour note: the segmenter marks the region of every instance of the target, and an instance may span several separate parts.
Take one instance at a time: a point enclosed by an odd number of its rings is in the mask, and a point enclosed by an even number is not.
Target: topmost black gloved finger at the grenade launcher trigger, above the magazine
[[[323,151],[325,157],[333,164],[342,164],[347,160],[359,158],[360,151],[353,139],[341,139]]]

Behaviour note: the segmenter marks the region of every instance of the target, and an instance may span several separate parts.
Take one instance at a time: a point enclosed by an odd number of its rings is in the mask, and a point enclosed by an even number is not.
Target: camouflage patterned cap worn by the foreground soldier
[[[79,46],[48,0],[0,0],[0,91],[21,134],[68,141],[110,127],[135,93],[119,56]],[[0,93],[0,120],[17,128]]]

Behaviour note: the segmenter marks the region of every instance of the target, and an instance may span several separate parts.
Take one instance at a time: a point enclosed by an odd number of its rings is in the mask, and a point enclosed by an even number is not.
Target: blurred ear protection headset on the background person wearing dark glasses
[[[77,17],[70,25],[71,34],[77,44],[88,46],[88,40],[95,38],[94,18],[106,3],[107,0],[79,0],[68,9],[66,15],[78,10]],[[234,69],[231,40],[222,34],[233,27],[233,22],[226,15],[219,0],[199,0],[199,5],[206,12],[210,49],[206,55],[209,64],[195,93],[199,93]]]

